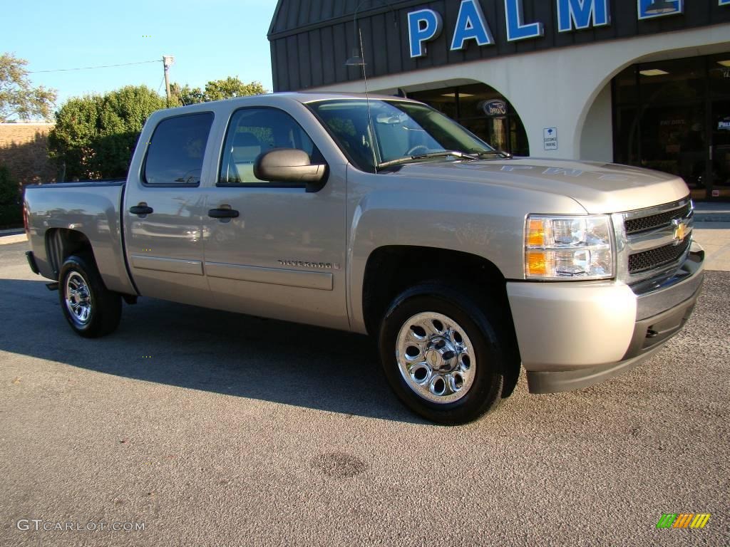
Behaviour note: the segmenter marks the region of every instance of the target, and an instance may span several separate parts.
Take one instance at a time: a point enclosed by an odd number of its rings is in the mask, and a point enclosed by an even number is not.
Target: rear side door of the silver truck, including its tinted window
[[[155,127],[139,176],[130,174],[123,206],[126,253],[144,296],[204,304],[201,174],[211,112],[167,117]],[[145,136],[145,133],[142,135]]]

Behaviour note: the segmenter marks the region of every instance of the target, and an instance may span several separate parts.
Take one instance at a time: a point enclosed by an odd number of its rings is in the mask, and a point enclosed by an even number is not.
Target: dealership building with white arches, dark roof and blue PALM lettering
[[[279,0],[274,91],[401,94],[515,155],[730,200],[730,0]]]

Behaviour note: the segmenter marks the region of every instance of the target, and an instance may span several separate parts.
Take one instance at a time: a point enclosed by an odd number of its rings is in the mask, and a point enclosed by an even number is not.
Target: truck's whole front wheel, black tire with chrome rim
[[[471,422],[501,400],[504,338],[469,292],[423,284],[399,295],[380,328],[388,383],[417,414],[442,424]]]

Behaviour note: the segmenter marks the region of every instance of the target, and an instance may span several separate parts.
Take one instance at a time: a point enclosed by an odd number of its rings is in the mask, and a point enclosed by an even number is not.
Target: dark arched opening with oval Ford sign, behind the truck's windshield
[[[485,84],[458,85],[408,93],[433,106],[493,147],[517,156],[530,154],[520,116],[499,91]]]

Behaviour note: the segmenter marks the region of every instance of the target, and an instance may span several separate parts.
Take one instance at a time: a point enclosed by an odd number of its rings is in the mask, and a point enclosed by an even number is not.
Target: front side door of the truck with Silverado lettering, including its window
[[[329,166],[317,192],[257,179],[255,159],[273,148],[304,150],[313,163],[324,163],[307,132],[281,109],[238,109],[224,139],[203,218],[215,306],[347,328],[344,166]]]

